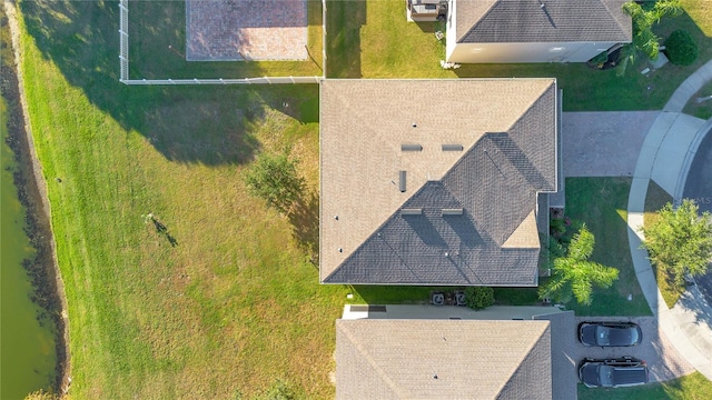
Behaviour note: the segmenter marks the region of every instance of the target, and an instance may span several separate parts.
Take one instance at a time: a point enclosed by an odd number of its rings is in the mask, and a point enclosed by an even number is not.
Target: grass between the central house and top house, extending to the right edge
[[[444,26],[407,22],[404,1],[327,1],[327,76],[333,78],[556,78],[563,89],[564,111],[662,109],[680,83],[712,59],[712,9],[706,0],[682,0],[685,13],[663,20],[656,30],[664,39],[684,28],[701,52],[690,67],[665,66],[642,76],[644,57],[623,77],[615,70],[592,70],[583,63],[463,64],[454,71],[439,67],[445,46],[435,38]],[[434,98],[447,93],[434,93]]]

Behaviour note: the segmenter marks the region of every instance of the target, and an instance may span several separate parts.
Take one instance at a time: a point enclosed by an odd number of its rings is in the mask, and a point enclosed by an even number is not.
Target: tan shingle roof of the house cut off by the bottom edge
[[[548,321],[336,320],[337,399],[552,399]]]

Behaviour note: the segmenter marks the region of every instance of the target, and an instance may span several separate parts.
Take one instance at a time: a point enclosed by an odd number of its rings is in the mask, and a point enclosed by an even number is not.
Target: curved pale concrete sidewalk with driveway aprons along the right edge
[[[645,196],[650,180],[679,200],[692,157],[709,130],[705,121],[682,113],[688,100],[712,80],[712,61],[688,78],[655,119],[637,157],[627,204],[629,243],[641,289],[675,350],[712,380],[712,308],[696,288],[685,292],[672,309],[657,289],[647,252],[641,249]]]

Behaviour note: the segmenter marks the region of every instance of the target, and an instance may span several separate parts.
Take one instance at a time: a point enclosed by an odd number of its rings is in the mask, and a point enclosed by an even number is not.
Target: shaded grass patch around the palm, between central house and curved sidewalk
[[[594,289],[593,303],[567,303],[577,316],[651,316],[641,291],[627,241],[630,178],[566,178],[566,214],[595,236],[592,261],[619,270],[609,289]],[[632,294],[633,299],[627,300]]]

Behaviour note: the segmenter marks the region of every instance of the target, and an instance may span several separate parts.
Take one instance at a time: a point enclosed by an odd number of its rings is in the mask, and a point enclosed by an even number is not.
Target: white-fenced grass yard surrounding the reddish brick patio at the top
[[[186,2],[129,3],[131,79],[247,78],[322,76],[322,1],[307,0],[308,52],[306,61],[186,61]],[[118,26],[118,6],[116,10]],[[118,33],[117,33],[118,34]],[[113,39],[113,38],[112,38]],[[118,40],[118,37],[117,37]]]

